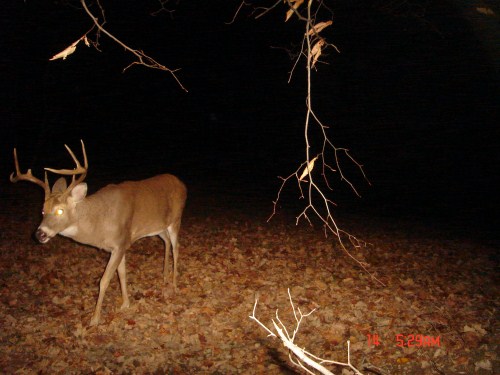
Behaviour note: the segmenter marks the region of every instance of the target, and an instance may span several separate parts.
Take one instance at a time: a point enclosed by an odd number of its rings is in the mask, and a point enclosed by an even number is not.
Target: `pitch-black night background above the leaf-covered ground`
[[[495,228],[499,63],[491,40],[453,2],[419,17],[379,3],[332,2],[333,16],[323,14],[333,20],[323,36],[341,53],[322,57],[313,104],[372,183],[346,165],[362,198],[334,176],[332,199],[347,213]],[[194,202],[224,204],[231,195],[270,211],[277,176],[305,158],[304,60],[287,82],[303,25],[283,22],[283,5],[258,20],[244,8],[228,24],[239,1],[171,1],[175,11],[157,16],[156,1],[102,1],[109,31],[180,68],[185,93],[165,72],[122,73],[133,57],[106,36],[101,52],[80,44],[67,60],[49,61],[91,27],[71,4],[3,6],[0,190],[11,188],[13,147],[21,168],[41,177],[44,166],[72,167],[63,145],[79,153],[83,139],[91,191],[171,172]],[[286,199],[296,199],[290,192]]]

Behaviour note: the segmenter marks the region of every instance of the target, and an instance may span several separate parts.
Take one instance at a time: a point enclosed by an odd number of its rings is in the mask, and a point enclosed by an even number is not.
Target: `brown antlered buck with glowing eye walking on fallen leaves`
[[[177,286],[177,258],[179,255],[178,234],[182,211],[186,202],[185,185],[175,176],[162,174],[142,181],[126,181],[108,185],[97,193],[87,196],[88,162],[85,145],[82,143],[84,165],[82,166],[71,149],[65,145],[73,158],[75,169],[45,168],[45,181],[35,178],[31,169],[21,173],[14,149],[16,175],[12,182],[31,181],[45,190],[43,220],[36,231],[41,243],[48,242],[56,234],[95,246],[111,253],[106,270],[99,284],[99,297],[90,325],[99,323],[102,301],[109,281],[118,271],[122,291],[122,309],[130,305],[127,294],[125,251],[138,239],[160,236],[165,242],[163,281],[167,282],[170,248],[173,254],[173,287]],[[60,177],[50,190],[47,171],[60,175],[71,175],[72,181]],[[78,178],[76,178],[78,176]]]

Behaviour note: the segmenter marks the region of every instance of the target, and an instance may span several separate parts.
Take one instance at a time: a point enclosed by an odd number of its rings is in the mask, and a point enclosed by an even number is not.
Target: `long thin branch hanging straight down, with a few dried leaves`
[[[325,234],[332,233],[339,241],[342,250],[352,259],[354,260],[365,272],[367,272],[376,282],[385,286],[385,284],[379,280],[370,270],[368,269],[369,264],[365,262],[359,261],[356,257],[354,257],[351,252],[348,250],[346,243],[344,242],[345,237],[349,240],[350,244],[354,248],[359,248],[362,246],[366,246],[367,243],[358,239],[356,236],[351,233],[341,229],[337,225],[337,221],[333,215],[333,207],[336,206],[335,202],[333,202],[330,198],[328,198],[327,194],[323,191],[323,188],[319,186],[315,180],[313,169],[317,164],[321,164],[321,174],[324,180],[326,187],[329,190],[333,190],[331,187],[331,182],[329,181],[328,175],[331,173],[335,173],[338,175],[341,182],[345,182],[351,190],[357,196],[360,196],[359,192],[355,188],[354,184],[350,181],[350,179],[345,175],[343,167],[340,162],[340,156],[346,157],[360,172],[363,178],[368,181],[365,172],[363,170],[363,166],[349,153],[347,148],[337,147],[331,141],[327,134],[328,126],[324,125],[320,118],[314,111],[313,103],[312,103],[312,71],[316,69],[316,66],[321,63],[321,57],[323,56],[323,52],[327,48],[333,48],[335,51],[339,52],[338,48],[331,43],[328,43],[325,38],[321,36],[321,32],[333,24],[332,20],[319,21],[316,22],[318,18],[318,13],[320,8],[323,6],[322,1],[316,1],[317,8],[315,12],[312,11],[312,5],[314,0],[308,0],[307,4],[305,4],[304,8],[304,0],[285,0],[288,5],[288,10],[286,12],[285,22],[291,19],[292,17],[297,17],[300,21],[305,24],[305,31],[303,34],[301,51],[298,57],[296,58],[292,71],[289,76],[289,82],[292,79],[292,74],[296,67],[299,64],[299,61],[302,58],[306,60],[306,72],[307,72],[307,95],[306,95],[306,118],[304,122],[304,140],[305,140],[305,161],[303,161],[299,167],[295,170],[295,172],[291,173],[288,177],[278,177],[282,180],[281,186],[278,190],[276,200],[273,201],[273,212],[269,217],[268,221],[276,214],[276,208],[278,202],[281,197],[281,193],[285,187],[291,180],[295,179],[297,181],[297,185],[300,191],[300,198],[305,198],[307,200],[306,207],[302,210],[302,212],[297,216],[296,223],[301,219],[307,220],[311,224],[311,220],[309,218],[309,214],[317,217],[324,226]],[[279,2],[278,2],[279,3]],[[274,3],[271,7],[261,11],[258,17],[261,17],[274,7],[278,5],[278,3]],[[302,12],[302,13],[301,13]],[[314,144],[313,139],[311,138],[312,128],[316,127],[320,129],[320,134],[322,136],[322,144],[319,149],[319,153],[311,155],[311,150],[318,149],[318,146]],[[315,146],[313,148],[313,146]],[[329,152],[333,152],[334,155],[334,165],[330,165],[327,160],[327,154]],[[302,173],[300,171],[302,170]],[[307,177],[307,180],[305,179]],[[303,184],[307,183],[307,187],[303,187]]]

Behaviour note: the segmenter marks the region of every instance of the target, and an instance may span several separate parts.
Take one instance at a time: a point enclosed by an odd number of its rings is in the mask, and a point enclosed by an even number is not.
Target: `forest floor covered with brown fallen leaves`
[[[35,243],[40,197],[20,188],[0,212],[2,373],[300,372],[249,319],[258,298],[257,318],[271,327],[278,310],[293,330],[288,288],[302,312],[316,308],[296,341],[320,357],[346,361],[350,340],[364,374],[500,373],[498,249],[480,234],[345,218],[371,243],[353,255],[382,287],[321,228],[295,226],[284,212],[267,223],[269,207],[194,197],[178,293],[164,293],[161,240],[140,240],[127,255],[130,309],[119,310],[115,277],[102,324],[88,328],[108,254],[62,237]],[[411,335],[427,338],[408,347]]]

